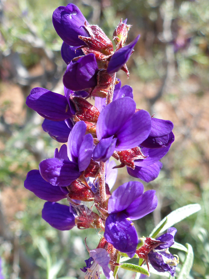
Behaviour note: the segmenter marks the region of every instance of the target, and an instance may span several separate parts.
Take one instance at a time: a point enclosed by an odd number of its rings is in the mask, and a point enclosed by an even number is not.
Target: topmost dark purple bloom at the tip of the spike
[[[84,27],[88,22],[76,5],[70,3],[66,7],[58,7],[52,15],[52,23],[66,44],[73,47],[85,45],[78,36],[89,37],[89,32]]]

